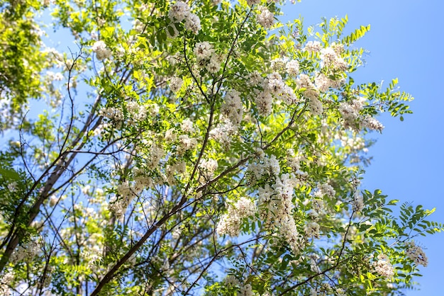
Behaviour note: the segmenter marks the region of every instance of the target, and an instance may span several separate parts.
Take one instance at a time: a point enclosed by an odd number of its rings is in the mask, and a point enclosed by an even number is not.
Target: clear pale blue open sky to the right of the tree
[[[360,25],[371,30],[357,45],[370,51],[367,64],[353,73],[355,81],[389,82],[398,77],[402,91],[411,93],[414,114],[398,118],[382,116],[385,126],[362,182],[364,188],[379,188],[389,199],[423,205],[436,212],[431,220],[444,222],[443,183],[443,113],[444,33],[442,0],[302,0],[287,5],[284,19],[304,17],[304,24],[316,25],[321,17],[348,15],[348,31]],[[438,186],[438,187],[437,187]],[[421,290],[406,290],[407,296],[441,296],[444,233],[418,237],[424,247],[428,267],[421,268]]]

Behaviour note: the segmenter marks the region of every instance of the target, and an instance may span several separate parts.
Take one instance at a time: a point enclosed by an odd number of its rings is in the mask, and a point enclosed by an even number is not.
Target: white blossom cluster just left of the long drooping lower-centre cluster
[[[248,198],[240,198],[234,205],[228,204],[228,213],[224,214],[219,221],[216,232],[222,236],[228,234],[237,237],[240,233],[240,223],[243,218],[255,215],[256,206]]]

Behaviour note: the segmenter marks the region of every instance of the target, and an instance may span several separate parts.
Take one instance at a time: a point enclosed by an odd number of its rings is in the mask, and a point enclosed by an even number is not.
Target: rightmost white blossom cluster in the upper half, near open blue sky
[[[364,108],[365,98],[357,98],[349,102],[341,102],[339,112],[344,120],[344,127],[350,130],[360,131],[366,127],[369,130],[381,132],[384,125],[370,115],[361,115],[360,110]]]

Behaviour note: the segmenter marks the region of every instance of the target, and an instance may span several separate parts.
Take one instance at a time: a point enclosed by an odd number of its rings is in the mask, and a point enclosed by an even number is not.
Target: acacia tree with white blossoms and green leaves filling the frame
[[[353,81],[369,26],[283,25],[265,0],[0,3],[2,295],[414,286],[414,239],[443,226],[360,187],[376,116],[412,99]],[[48,13],[76,47],[43,42]]]

